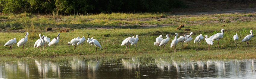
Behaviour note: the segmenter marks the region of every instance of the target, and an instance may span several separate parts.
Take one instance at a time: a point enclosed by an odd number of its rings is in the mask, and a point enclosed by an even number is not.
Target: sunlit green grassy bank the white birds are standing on
[[[20,14],[21,15],[21,14]],[[98,20],[102,20],[102,17],[107,17],[111,15],[104,15],[99,14],[102,16],[96,17]],[[126,14],[120,14],[120,15],[126,15]],[[132,15],[132,14],[128,14]],[[127,15],[127,16],[128,16]],[[248,15],[248,14],[244,14]],[[241,16],[244,16],[241,14]],[[8,15],[11,16],[11,15]],[[16,15],[17,16],[17,15]],[[138,14],[135,17],[132,17],[133,19],[142,19],[147,18],[151,16],[160,16],[160,14]],[[171,16],[171,15],[170,15]],[[182,15],[187,16],[187,15]],[[198,17],[208,17],[213,18],[209,19],[209,21],[214,20],[214,17],[232,17],[236,18],[235,15],[201,15]],[[252,14],[252,16],[255,16]],[[63,16],[63,17],[72,17],[72,16]],[[85,16],[84,16],[85,17]],[[87,16],[86,16],[87,17]],[[90,16],[93,18],[92,16]],[[100,18],[101,17],[101,18]],[[237,16],[239,17],[239,16]],[[247,16],[244,16],[247,17]],[[10,18],[10,17],[8,17]],[[40,19],[39,17],[33,17],[34,19]],[[50,18],[50,17],[49,17]],[[88,16],[89,18],[89,16]],[[122,17],[119,17],[121,19]],[[208,19],[207,18],[207,19]],[[61,33],[60,35],[60,42],[56,46],[56,50],[53,50],[54,47],[47,47],[46,50],[42,51],[40,53],[40,50],[37,48],[33,48],[34,42],[39,39],[38,34],[41,33],[42,35],[47,36],[48,38],[55,38],[58,34],[58,31],[36,31],[31,32],[29,34],[29,39],[27,44],[25,45],[25,49],[23,50],[22,47],[17,47],[17,44],[14,44],[12,52],[10,51],[9,47],[5,47],[4,44],[10,39],[16,38],[17,42],[24,38],[25,33],[23,32],[0,32],[0,56],[6,56],[6,57],[56,57],[56,56],[72,56],[72,55],[86,55],[88,57],[129,57],[129,56],[151,56],[151,57],[171,57],[174,59],[186,59],[186,60],[206,60],[206,59],[249,59],[249,58],[256,58],[256,50],[255,50],[255,38],[252,38],[249,43],[250,45],[247,46],[245,42],[241,43],[241,40],[249,33],[250,30],[255,30],[255,21],[253,20],[253,17],[250,21],[236,21],[236,22],[204,22],[208,21],[204,18],[194,18],[196,22],[203,22],[202,24],[185,24],[185,28],[191,29],[193,32],[192,38],[194,38],[199,35],[203,34],[211,36],[213,34],[216,34],[220,32],[220,30],[223,28],[226,30],[225,37],[223,39],[220,39],[220,48],[217,48],[217,41],[214,41],[214,45],[210,46],[210,50],[206,51],[208,48],[208,45],[205,41],[200,43],[200,49],[198,49],[197,43],[194,44],[193,41],[190,42],[190,46],[188,46],[188,43],[183,44],[183,50],[181,50],[181,43],[179,42],[177,45],[177,52],[173,52],[173,48],[170,48],[171,41],[168,42],[166,48],[167,50],[160,50],[159,46],[155,46],[153,43],[155,42],[155,38],[159,35],[163,35],[164,39],[166,38],[166,34],[171,35],[171,39],[174,39],[174,34],[178,33],[179,36],[183,36],[184,34],[189,34],[190,31],[183,31],[182,30],[176,30],[177,25],[168,25],[166,27],[155,27],[155,28],[136,28],[136,29],[130,29],[130,28],[114,28],[114,29],[87,29],[87,28],[81,28],[79,26],[76,26],[76,30],[71,30],[71,32],[67,33]],[[125,17],[124,17],[125,19]],[[192,19],[190,17],[190,19]],[[70,19],[69,19],[70,20]],[[94,19],[96,20],[96,19]],[[104,19],[103,19],[104,20]],[[183,19],[179,19],[183,20]],[[10,22],[15,22],[18,20],[10,20]],[[32,20],[32,21],[40,21],[40,20]],[[8,21],[5,21],[8,22]],[[45,22],[48,22],[48,24],[54,24],[55,21],[52,22],[52,20],[45,20]],[[159,22],[159,21],[157,21]],[[174,22],[169,20],[168,22]],[[183,22],[183,21],[181,21]],[[65,22],[62,22],[65,23]],[[67,22],[68,23],[68,22]],[[98,22],[101,23],[101,22]],[[42,23],[42,27],[48,27],[46,25],[47,23]],[[81,23],[83,24],[83,23]],[[132,24],[132,23],[131,23]],[[46,25],[46,26],[44,26]],[[221,27],[222,25],[225,25]],[[99,25],[100,26],[100,25]],[[41,26],[34,25],[35,28],[40,28]],[[55,28],[58,26],[54,26]],[[65,27],[65,26],[63,26]],[[8,29],[8,28],[6,28]],[[239,35],[239,42],[238,46],[235,47],[235,43],[233,40],[233,36],[238,33]],[[135,46],[131,46],[130,50],[126,52],[126,46],[121,46],[121,42],[123,39],[127,37],[136,36],[136,34],[139,35],[139,42],[137,45],[137,49]],[[34,38],[30,38],[31,35],[36,35]],[[99,49],[97,52],[95,52],[95,46],[91,49],[91,45],[89,45],[87,42],[84,43],[83,49],[73,49],[73,46],[70,46],[70,49],[68,48],[67,42],[69,42],[71,39],[76,37],[93,37],[97,39],[103,49]],[[87,40],[87,39],[86,39]]]

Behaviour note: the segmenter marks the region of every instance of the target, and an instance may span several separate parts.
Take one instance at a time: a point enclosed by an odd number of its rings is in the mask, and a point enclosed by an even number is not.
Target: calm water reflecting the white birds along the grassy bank
[[[255,60],[174,61],[168,58],[13,60],[0,78],[256,78]]]

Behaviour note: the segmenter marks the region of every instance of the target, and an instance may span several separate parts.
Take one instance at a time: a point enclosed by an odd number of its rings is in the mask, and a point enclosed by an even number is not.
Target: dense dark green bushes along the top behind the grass
[[[172,7],[184,5],[179,0],[0,0],[4,13],[165,12]]]

